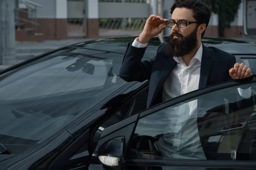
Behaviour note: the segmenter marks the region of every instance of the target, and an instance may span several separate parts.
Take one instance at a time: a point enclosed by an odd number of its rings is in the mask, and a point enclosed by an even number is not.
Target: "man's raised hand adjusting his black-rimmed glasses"
[[[151,38],[160,34],[167,27],[166,24],[163,24],[167,21],[169,20],[163,19],[158,15],[150,15],[137,41],[142,44],[148,43]],[[160,26],[161,24],[163,25]]]

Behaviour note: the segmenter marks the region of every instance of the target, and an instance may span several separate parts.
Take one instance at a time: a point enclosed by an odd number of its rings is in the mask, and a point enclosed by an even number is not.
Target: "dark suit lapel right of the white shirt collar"
[[[211,71],[211,67],[212,67],[211,51],[209,51],[208,48],[205,45],[203,45],[203,55],[202,55],[202,61],[201,61],[201,71],[200,71],[198,88],[204,88],[207,86],[207,81]]]

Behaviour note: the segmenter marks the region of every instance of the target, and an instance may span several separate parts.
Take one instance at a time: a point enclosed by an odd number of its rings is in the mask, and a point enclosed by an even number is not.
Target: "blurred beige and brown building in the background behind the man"
[[[157,4],[162,4],[162,8]],[[150,14],[170,18],[175,0],[17,0],[16,40],[43,41],[138,35]],[[157,8],[158,7],[158,8]],[[160,9],[161,11],[159,11]],[[157,11],[158,10],[158,11]],[[169,35],[170,30],[165,29]],[[256,35],[256,0],[242,0],[227,37]],[[212,14],[205,36],[218,37]]]

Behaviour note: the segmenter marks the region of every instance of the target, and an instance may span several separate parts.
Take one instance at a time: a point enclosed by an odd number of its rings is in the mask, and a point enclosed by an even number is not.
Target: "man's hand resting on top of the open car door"
[[[234,67],[229,70],[229,73],[233,79],[244,79],[250,77],[251,70],[247,65],[244,65],[244,63],[239,64],[237,62]]]

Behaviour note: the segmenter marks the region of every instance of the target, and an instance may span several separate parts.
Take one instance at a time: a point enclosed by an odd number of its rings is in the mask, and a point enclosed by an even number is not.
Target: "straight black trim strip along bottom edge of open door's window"
[[[255,168],[256,161],[232,161],[230,160],[196,160],[196,159],[166,159],[166,160],[145,160],[128,159],[126,165],[135,166],[182,166],[182,167],[224,167],[224,168]],[[184,164],[186,161],[186,164]]]

